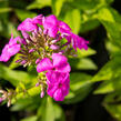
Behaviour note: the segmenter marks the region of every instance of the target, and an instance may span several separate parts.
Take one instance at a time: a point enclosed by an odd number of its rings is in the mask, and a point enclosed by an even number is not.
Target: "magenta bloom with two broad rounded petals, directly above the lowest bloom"
[[[37,71],[48,71],[48,70],[54,70],[58,72],[70,72],[71,68],[68,63],[68,59],[60,54],[60,53],[53,53],[52,54],[52,61],[49,58],[42,59],[39,64],[37,65]]]

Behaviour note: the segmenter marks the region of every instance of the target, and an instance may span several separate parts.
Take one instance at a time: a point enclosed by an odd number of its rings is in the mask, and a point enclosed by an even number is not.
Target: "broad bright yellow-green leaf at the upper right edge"
[[[101,8],[98,12],[98,19],[107,29],[108,37],[113,44],[121,48],[121,16],[114,9]]]

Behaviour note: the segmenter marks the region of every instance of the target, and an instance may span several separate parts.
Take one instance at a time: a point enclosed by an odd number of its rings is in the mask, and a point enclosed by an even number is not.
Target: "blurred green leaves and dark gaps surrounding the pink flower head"
[[[33,67],[0,62],[0,88],[21,93],[12,107],[0,107],[2,121],[121,121],[121,9],[120,0],[0,0],[0,51],[14,37],[18,24],[37,14],[56,14],[72,31],[90,41],[89,50],[70,58],[70,93],[54,102],[34,88]],[[24,94],[21,90],[27,90]]]

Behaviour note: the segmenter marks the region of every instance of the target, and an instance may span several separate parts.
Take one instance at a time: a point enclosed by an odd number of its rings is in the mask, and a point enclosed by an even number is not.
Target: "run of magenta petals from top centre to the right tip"
[[[68,43],[71,43],[73,49],[88,49],[89,41],[85,41],[82,37],[79,37],[74,33],[72,33],[71,28],[64,23],[63,21],[60,21],[56,18],[56,16],[49,16],[42,20],[42,24],[44,28],[44,31],[48,31],[48,34],[50,37],[56,38],[57,33],[60,32],[61,37],[65,38],[68,40]]]

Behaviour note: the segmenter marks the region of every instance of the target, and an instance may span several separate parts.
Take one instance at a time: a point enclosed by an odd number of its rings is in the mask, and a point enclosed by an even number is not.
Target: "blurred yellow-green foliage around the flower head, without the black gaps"
[[[121,14],[112,8],[113,1],[33,0],[29,3],[24,0],[0,0],[0,43],[8,41],[11,33],[14,37],[20,36],[17,31],[18,23],[26,18],[33,18],[39,9],[41,11],[46,7],[49,7],[60,20],[67,22],[74,33],[80,33],[82,37],[92,32],[97,34],[98,28],[103,26],[107,32],[103,39],[110,60],[94,75],[90,75],[88,71],[98,70],[98,65],[90,58],[97,54],[95,50],[91,48],[88,51],[78,50],[75,58],[69,57],[72,67],[70,93],[61,103],[81,102],[91,92],[104,94],[102,105],[112,117],[121,121]],[[93,40],[93,34],[89,38],[90,40]],[[91,42],[89,46],[91,47]],[[27,72],[13,70],[19,67],[16,63],[19,54],[9,63],[9,68],[0,63],[0,81],[9,81],[19,92],[12,99],[11,111],[37,112],[21,121],[65,121],[60,103],[54,103],[47,95],[43,99],[39,98],[40,87],[34,87],[38,80],[36,67],[29,67]],[[99,87],[92,90],[93,83],[97,82]]]

